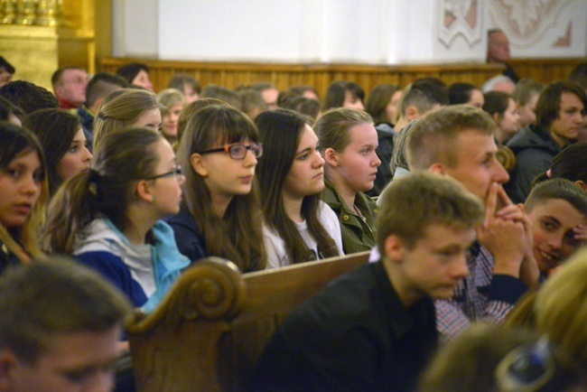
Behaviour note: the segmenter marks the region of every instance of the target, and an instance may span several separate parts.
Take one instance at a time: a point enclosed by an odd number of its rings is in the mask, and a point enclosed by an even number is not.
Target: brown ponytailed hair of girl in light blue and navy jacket
[[[79,230],[99,216],[123,231],[136,183],[154,175],[159,157],[154,145],[163,135],[149,128],[126,128],[104,137],[91,169],[61,185],[53,197],[43,235],[49,252],[70,254]]]

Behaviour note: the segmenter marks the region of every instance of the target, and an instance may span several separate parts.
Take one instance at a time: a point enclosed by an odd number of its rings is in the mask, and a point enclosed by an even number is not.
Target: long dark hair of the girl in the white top
[[[264,154],[256,166],[266,224],[275,229],[284,240],[287,257],[292,264],[312,260],[300,231],[284,208],[284,182],[292,169],[295,152],[300,145],[304,118],[291,110],[277,109],[261,113],[256,117]],[[305,196],[302,202],[302,216],[306,219],[312,237],[318,243],[321,257],[339,256],[334,240],[321,225],[318,208],[320,193]]]

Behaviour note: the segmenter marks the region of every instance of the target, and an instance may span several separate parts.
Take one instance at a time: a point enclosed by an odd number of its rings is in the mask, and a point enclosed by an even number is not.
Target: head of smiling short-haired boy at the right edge
[[[587,193],[568,180],[547,180],[532,189],[524,208],[532,222],[534,257],[548,275],[587,239]]]

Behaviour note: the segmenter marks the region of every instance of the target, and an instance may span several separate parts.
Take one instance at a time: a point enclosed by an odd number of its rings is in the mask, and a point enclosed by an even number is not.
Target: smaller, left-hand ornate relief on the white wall
[[[449,48],[459,35],[471,48],[481,40],[480,5],[478,0],[443,0],[438,12],[438,41]]]

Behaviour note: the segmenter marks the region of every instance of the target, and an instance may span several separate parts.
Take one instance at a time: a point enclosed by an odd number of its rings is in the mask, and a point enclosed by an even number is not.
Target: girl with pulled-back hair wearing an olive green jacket
[[[367,112],[340,107],[324,113],[314,129],[325,161],[322,200],[339,217],[344,252],[369,250],[377,205],[363,192],[373,188],[381,164],[373,121]]]

